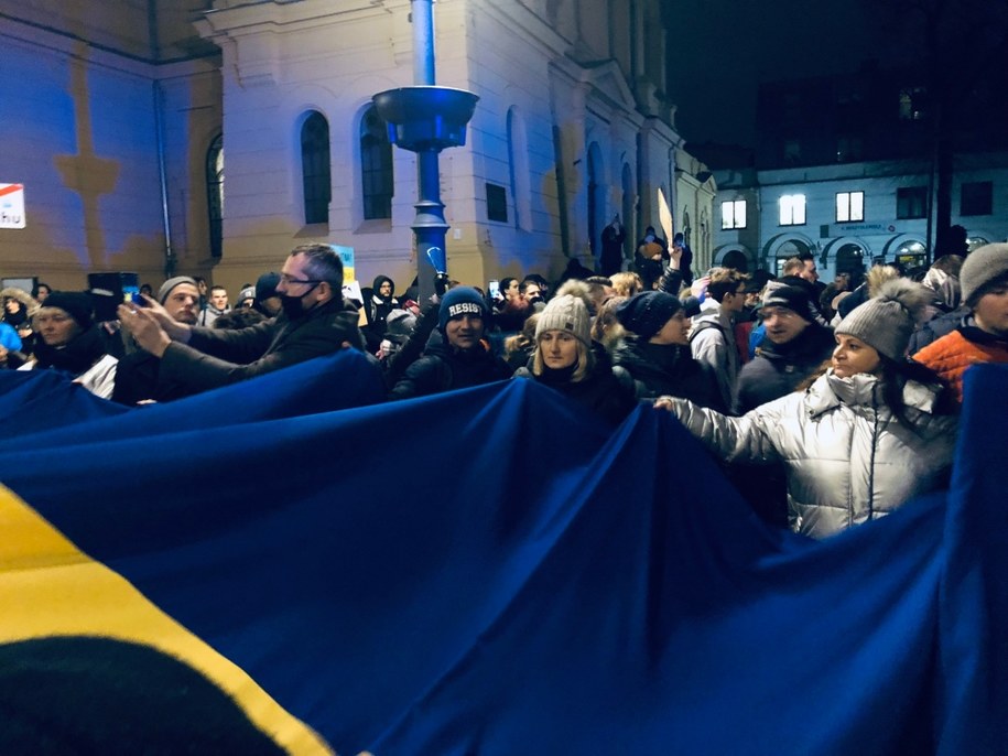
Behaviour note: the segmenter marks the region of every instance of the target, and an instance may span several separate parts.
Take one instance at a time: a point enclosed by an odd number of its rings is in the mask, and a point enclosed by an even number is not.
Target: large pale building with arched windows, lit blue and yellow
[[[24,187],[26,223],[0,228],[2,274],[83,288],[102,270],[189,273],[237,288],[322,241],[354,249],[361,283],[383,273],[404,288],[416,159],[389,143],[371,98],[413,83],[410,10],[4,10],[15,84],[0,104],[0,183]],[[616,213],[630,259],[660,196],[676,230],[709,228],[713,180],[696,182],[664,94],[661,2],[440,0],[434,15],[437,84],[480,98],[466,144],[441,154],[453,278],[593,266]]]

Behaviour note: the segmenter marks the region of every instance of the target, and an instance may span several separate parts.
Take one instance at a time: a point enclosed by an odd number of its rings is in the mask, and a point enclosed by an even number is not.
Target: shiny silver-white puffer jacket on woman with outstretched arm
[[[672,410],[714,453],[733,461],[782,461],[796,532],[825,538],[888,515],[931,489],[952,463],[957,418],[935,415],[935,387],[907,381],[901,424],[867,374],[828,370],[806,391],[790,393],[741,418],[673,399]]]

